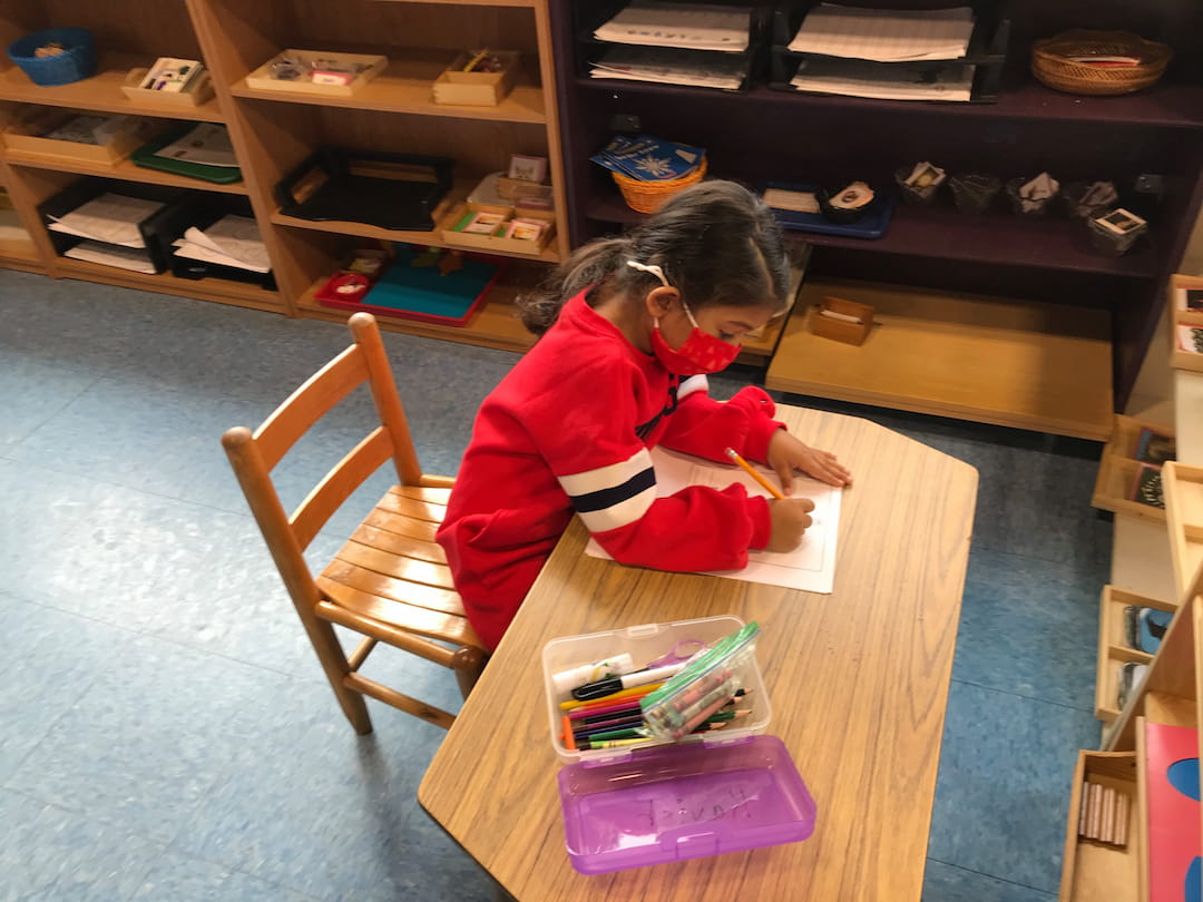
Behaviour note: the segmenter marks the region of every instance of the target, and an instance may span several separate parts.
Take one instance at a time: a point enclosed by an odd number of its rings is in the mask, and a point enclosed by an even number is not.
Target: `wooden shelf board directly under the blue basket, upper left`
[[[137,14],[130,10],[129,14]],[[122,83],[131,69],[147,66],[154,58],[131,53],[106,53],[96,66],[96,75],[82,82],[43,88],[29,81],[29,76],[17,66],[10,66],[0,72],[0,100],[16,100],[25,103],[45,103],[55,107],[75,107],[94,109],[105,113],[132,113],[136,115],[154,115],[164,119],[195,119],[196,121],[220,123],[225,120],[214,97],[196,107],[177,107],[156,103],[144,103],[130,100],[122,94]]]

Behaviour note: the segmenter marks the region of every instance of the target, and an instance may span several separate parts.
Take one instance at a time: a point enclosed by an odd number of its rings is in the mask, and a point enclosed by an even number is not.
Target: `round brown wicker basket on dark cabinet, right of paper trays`
[[[1032,44],[1032,75],[1068,94],[1128,94],[1161,78],[1174,52],[1130,31],[1072,29]],[[1134,66],[1107,69],[1073,63],[1069,57],[1139,57]]]

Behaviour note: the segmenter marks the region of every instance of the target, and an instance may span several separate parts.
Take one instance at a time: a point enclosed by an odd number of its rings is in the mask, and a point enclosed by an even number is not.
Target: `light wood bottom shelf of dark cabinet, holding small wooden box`
[[[825,295],[873,307],[857,348],[812,334]],[[765,384],[770,388],[1106,439],[1112,345],[1102,310],[872,283],[808,280]]]

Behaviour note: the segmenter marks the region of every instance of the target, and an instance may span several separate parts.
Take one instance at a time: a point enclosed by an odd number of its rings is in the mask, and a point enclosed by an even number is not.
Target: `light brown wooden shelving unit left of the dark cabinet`
[[[357,247],[408,242],[446,247],[438,231],[398,232],[354,222],[315,222],[284,215],[274,185],[322,147],[433,154],[456,161],[450,209],[481,177],[505,170],[510,154],[547,156],[559,209],[564,208],[559,131],[552,84],[546,0],[168,0],[103,4],[100,0],[0,0],[5,43],[41,28],[77,25],[97,37],[100,65],[91,78],[67,85],[35,85],[0,60],[0,124],[18,105],[129,113],[156,119],[225,123],[243,180],[219,185],[144,170],[130,161],[113,167],[0,148],[0,176],[30,231],[29,242],[0,244],[0,266],[52,277],[195,297],[326,320],[350,314],[314,299],[318,287]],[[437,105],[432,84],[466,47],[514,49],[522,72],[496,107]],[[288,94],[247,84],[247,76],[289,47],[380,53],[389,67],[350,97]],[[215,96],[198,107],[160,107],[132,101],[120,90],[128,72],[156,57],[203,59]],[[59,257],[37,204],[75,179],[100,176],[217,195],[247,197],[259,222],[279,289],[242,283],[144,275]],[[386,328],[448,340],[523,350],[534,340],[514,315],[514,297],[568,254],[563,229],[538,255],[515,260],[488,302],[463,328],[383,319]],[[506,256],[502,254],[500,256]]]

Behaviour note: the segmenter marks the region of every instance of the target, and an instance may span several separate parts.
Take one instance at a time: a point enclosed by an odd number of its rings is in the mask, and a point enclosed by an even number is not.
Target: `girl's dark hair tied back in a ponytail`
[[[743,185],[715,180],[686,189],[626,235],[577,249],[541,289],[518,298],[522,324],[541,336],[568,299],[589,285],[628,296],[659,286],[659,279],[627,266],[628,260],[659,266],[694,310],[786,307],[789,257],[781,226]]]

